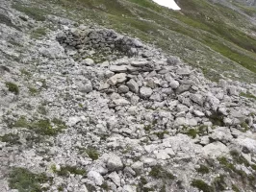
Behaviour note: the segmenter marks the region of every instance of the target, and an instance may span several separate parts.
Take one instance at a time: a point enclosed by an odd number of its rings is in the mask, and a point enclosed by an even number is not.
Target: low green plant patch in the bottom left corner
[[[51,180],[45,174],[34,174],[28,169],[16,167],[9,175],[9,186],[19,192],[42,191],[40,184]]]

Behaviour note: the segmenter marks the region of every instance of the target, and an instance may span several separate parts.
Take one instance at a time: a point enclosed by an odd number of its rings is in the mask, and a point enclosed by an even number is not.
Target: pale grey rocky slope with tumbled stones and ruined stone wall
[[[256,190],[256,84],[0,3],[1,191]]]

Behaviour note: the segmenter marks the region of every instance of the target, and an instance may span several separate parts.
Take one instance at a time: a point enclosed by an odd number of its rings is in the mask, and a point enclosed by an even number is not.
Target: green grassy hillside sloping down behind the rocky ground
[[[95,22],[140,37],[199,67],[212,80],[222,75],[256,82],[256,26],[248,17],[207,0],[177,0],[180,12],[150,0],[33,0],[13,8],[39,19],[62,15],[89,24]],[[39,5],[39,6],[38,6]],[[237,5],[244,14],[253,11]],[[250,10],[250,11],[248,11]],[[37,16],[38,14],[38,16]]]

